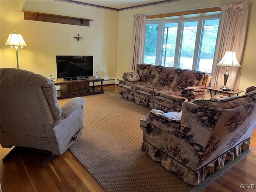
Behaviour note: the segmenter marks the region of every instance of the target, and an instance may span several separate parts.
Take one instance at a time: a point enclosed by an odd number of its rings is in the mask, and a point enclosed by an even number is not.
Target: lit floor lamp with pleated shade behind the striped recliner
[[[5,45],[10,45],[12,49],[16,50],[17,68],[19,68],[18,50],[22,50],[23,46],[27,46],[21,34],[10,33]],[[14,47],[13,47],[14,46]],[[20,46],[20,48],[18,48]]]

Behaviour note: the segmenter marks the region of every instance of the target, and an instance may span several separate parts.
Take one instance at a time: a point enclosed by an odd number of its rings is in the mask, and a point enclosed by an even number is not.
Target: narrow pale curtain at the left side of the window
[[[144,14],[133,15],[133,38],[132,38],[132,64],[131,69],[136,70],[137,64],[142,64],[145,49],[146,16]]]

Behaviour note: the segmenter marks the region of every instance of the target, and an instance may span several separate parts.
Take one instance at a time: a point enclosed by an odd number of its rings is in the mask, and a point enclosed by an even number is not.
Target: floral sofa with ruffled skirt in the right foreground
[[[179,113],[152,109],[140,121],[141,150],[196,186],[249,149],[255,117],[256,90],[220,101],[185,101]]]

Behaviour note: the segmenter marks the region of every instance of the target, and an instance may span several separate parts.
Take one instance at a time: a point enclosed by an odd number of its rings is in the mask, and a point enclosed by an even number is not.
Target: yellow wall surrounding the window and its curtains
[[[159,6],[151,6],[140,9],[133,9],[128,11],[118,12],[118,54],[117,54],[117,78],[122,79],[123,72],[132,71],[130,69],[132,56],[132,32],[134,14],[154,14],[162,12],[177,12],[181,10],[191,10],[196,8],[206,8],[211,6],[221,6],[230,4],[232,2],[244,1],[180,1],[163,4]],[[246,40],[246,47],[244,53],[244,60],[242,66],[242,74],[240,80],[240,90],[246,90],[249,86],[256,86],[256,29],[255,29],[255,12],[256,1],[253,1],[250,11],[250,20],[248,26],[248,36]],[[243,93],[244,94],[244,93]],[[242,95],[242,94],[240,94]],[[209,92],[206,94],[206,99],[210,98]]]

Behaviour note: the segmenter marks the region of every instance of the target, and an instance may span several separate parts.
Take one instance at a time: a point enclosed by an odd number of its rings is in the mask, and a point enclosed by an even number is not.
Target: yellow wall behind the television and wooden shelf
[[[94,75],[116,78],[117,21],[116,11],[91,8],[54,0],[0,1],[1,68],[16,68],[16,54],[5,42],[10,33],[22,34],[27,47],[18,51],[20,69],[49,78],[57,77],[56,55],[93,55]],[[87,18],[90,26],[75,26],[24,20],[22,10]],[[77,41],[74,36],[80,34]]]

